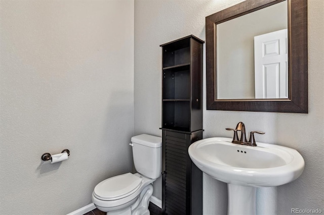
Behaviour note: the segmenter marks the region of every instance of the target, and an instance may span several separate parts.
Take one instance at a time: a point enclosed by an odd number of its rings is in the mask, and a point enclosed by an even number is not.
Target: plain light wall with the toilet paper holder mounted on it
[[[0,213],[69,213],[133,169],[134,1],[1,0],[0,20]]]

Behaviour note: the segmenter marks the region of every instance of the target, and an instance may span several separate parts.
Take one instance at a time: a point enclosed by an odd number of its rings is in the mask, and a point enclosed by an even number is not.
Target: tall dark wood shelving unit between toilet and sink
[[[188,147],[203,139],[203,44],[190,35],[162,47],[162,210],[203,213],[203,173]]]

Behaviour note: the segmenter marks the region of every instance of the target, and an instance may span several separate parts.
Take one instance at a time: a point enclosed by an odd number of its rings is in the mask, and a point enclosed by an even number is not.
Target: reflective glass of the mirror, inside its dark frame
[[[217,24],[216,99],[288,99],[287,29],[287,1]]]

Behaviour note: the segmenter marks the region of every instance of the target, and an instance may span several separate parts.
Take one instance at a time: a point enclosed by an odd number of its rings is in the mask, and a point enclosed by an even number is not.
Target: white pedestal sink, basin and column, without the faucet
[[[227,183],[228,214],[256,214],[256,188],[287,184],[304,170],[295,149],[257,142],[258,146],[231,143],[213,137],[190,145],[192,162],[211,177]]]

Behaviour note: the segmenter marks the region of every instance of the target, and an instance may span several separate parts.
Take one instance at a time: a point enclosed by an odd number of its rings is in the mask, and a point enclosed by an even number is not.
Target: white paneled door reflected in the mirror
[[[288,98],[287,29],[254,37],[255,98]]]

